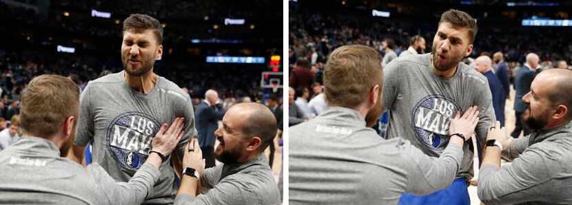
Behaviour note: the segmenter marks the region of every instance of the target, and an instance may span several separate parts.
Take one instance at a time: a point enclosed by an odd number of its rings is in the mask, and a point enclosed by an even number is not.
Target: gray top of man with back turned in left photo
[[[43,138],[21,138],[0,152],[0,204],[141,204],[159,180],[145,163],[129,182],[115,182],[98,164],[87,168]]]

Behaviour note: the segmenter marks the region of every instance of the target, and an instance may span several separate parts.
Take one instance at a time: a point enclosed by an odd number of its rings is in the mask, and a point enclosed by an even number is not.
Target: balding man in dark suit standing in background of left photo
[[[218,129],[218,120],[222,120],[225,110],[221,106],[218,93],[214,89],[205,92],[205,100],[196,106],[195,120],[198,131],[198,144],[203,151],[206,160],[205,168],[213,167],[214,164],[214,131]]]

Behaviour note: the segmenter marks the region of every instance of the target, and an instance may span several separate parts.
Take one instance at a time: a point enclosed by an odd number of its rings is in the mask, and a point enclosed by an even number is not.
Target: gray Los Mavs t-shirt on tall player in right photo
[[[453,77],[441,78],[433,72],[430,58],[431,54],[402,56],[383,68],[388,138],[405,138],[425,154],[439,156],[449,144],[449,122],[455,112],[463,114],[477,105],[475,133],[484,143],[496,119],[487,78],[464,63],[458,64]],[[458,176],[467,182],[473,177],[473,150],[464,144]]]

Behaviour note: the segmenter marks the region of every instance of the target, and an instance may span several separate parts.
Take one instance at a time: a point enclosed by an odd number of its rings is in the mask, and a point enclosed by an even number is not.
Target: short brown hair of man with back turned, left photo
[[[20,120],[24,133],[48,138],[61,129],[69,117],[79,116],[79,88],[69,78],[37,76],[21,96]]]

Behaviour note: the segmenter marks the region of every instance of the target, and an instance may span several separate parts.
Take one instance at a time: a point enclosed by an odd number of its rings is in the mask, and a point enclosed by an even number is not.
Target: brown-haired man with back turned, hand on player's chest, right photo
[[[476,108],[457,112],[450,143],[431,158],[408,140],[380,138],[382,58],[371,47],[345,45],[329,56],[323,114],[289,129],[290,204],[397,204],[404,192],[427,194],[451,184],[462,145],[478,122]]]

